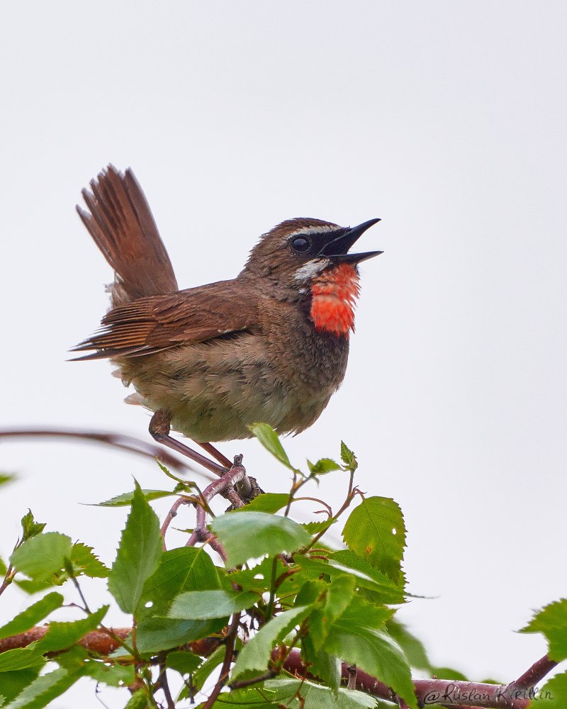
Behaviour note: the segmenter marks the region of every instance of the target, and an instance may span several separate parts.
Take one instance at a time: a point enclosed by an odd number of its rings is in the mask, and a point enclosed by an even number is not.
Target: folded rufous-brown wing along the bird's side
[[[97,350],[77,359],[140,357],[246,330],[257,321],[257,299],[236,281],[219,281],[114,308],[73,351]]]

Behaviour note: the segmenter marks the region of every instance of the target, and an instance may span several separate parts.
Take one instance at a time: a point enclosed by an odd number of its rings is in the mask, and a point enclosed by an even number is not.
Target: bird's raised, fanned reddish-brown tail
[[[103,256],[114,269],[113,307],[143,296],[178,291],[172,263],[159,236],[150,206],[132,170],[108,165],[82,195],[91,213],[77,212]]]

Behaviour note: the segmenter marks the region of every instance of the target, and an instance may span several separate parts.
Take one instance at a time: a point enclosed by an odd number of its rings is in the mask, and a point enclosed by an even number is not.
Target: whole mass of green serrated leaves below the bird
[[[1,706],[40,709],[82,677],[108,687],[128,687],[128,708],[189,705],[211,699],[215,707],[279,705],[299,709],[376,706],[376,698],[344,686],[342,662],[375,676],[406,705],[417,709],[412,670],[429,676],[465,679],[451,669],[432,667],[422,644],[395,618],[407,598],[402,568],[405,525],[395,501],[365,496],[354,485],[357,459],[341,446],[341,463],[324,458],[294,467],[275,433],[254,428],[262,444],[286,466],[291,489],[262,494],[244,508],[219,515],[210,531],[225,549],[226,564],[215,563],[208,545],[164,549],[159,520],[150,501],[174,494],[198,505],[196,485],[174,478],[171,490],[142,490],[113,498],[106,506],[130,506],[111,568],[82,542],[46,532],[31,513],[1,569],[0,593],[13,582],[41,593],[23,613],[0,627],[0,642],[49,619],[48,630],[26,647],[0,653]],[[317,498],[301,498],[303,486],[325,474],[343,476],[344,503],[333,510]],[[311,500],[324,519],[300,524],[291,518],[298,500]],[[210,509],[207,506],[210,513]],[[342,524],[344,548],[330,549],[325,532]],[[108,577],[108,603],[132,616],[125,637],[106,627],[109,605],[93,610],[84,597],[84,576]],[[77,614],[59,622],[64,605],[59,586],[72,584]],[[100,654],[79,644],[100,630],[117,649]],[[537,613],[525,632],[543,632],[552,659],[567,658],[567,601]],[[212,644],[198,646],[196,641]],[[195,652],[201,647],[201,652]],[[289,671],[291,653],[301,653],[306,677]],[[230,688],[207,700],[211,688]],[[175,696],[172,696],[176,688]],[[567,706],[567,674],[549,681],[546,706]],[[393,700],[397,699],[393,695]],[[380,703],[392,706],[391,703]]]

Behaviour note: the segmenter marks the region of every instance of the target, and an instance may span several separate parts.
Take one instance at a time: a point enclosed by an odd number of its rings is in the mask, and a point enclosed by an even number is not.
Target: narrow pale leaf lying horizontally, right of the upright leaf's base
[[[169,618],[208,620],[225,618],[239,610],[250,608],[258,601],[256,593],[230,593],[216,591],[187,591],[174,599]]]

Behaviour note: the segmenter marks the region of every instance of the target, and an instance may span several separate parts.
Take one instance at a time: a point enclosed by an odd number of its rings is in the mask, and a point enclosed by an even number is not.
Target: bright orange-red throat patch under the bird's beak
[[[315,328],[348,337],[349,330],[354,332],[359,292],[359,274],[352,264],[340,264],[313,279],[310,316]]]

